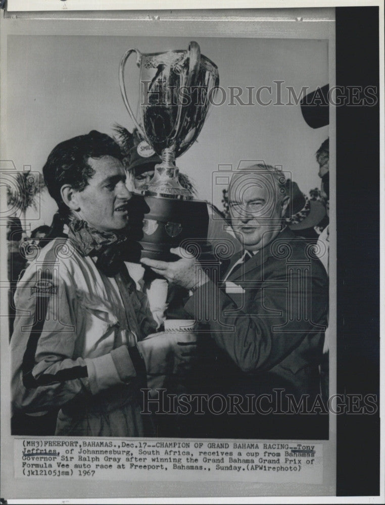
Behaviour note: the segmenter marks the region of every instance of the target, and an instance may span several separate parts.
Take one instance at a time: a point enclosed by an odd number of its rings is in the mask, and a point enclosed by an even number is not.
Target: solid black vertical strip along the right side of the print
[[[377,95],[372,107],[350,97],[336,108],[337,389],[379,398],[379,10],[335,15],[336,84]],[[379,494],[379,441],[378,411],[338,416],[338,496]]]

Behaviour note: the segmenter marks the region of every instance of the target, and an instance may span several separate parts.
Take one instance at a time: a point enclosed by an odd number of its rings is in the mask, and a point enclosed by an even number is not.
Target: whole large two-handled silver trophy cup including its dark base
[[[139,67],[138,117],[130,106],[124,77],[126,62],[133,53]],[[207,203],[194,200],[180,185],[175,159],[202,130],[219,85],[218,68],[201,55],[199,44],[193,41],[187,51],[142,54],[138,49],[128,49],[120,62],[119,78],[131,120],[162,159],[152,180],[137,194],[145,198],[150,209],[140,241],[142,257],[177,259],[170,254],[170,247],[186,239],[202,244],[207,238]]]

